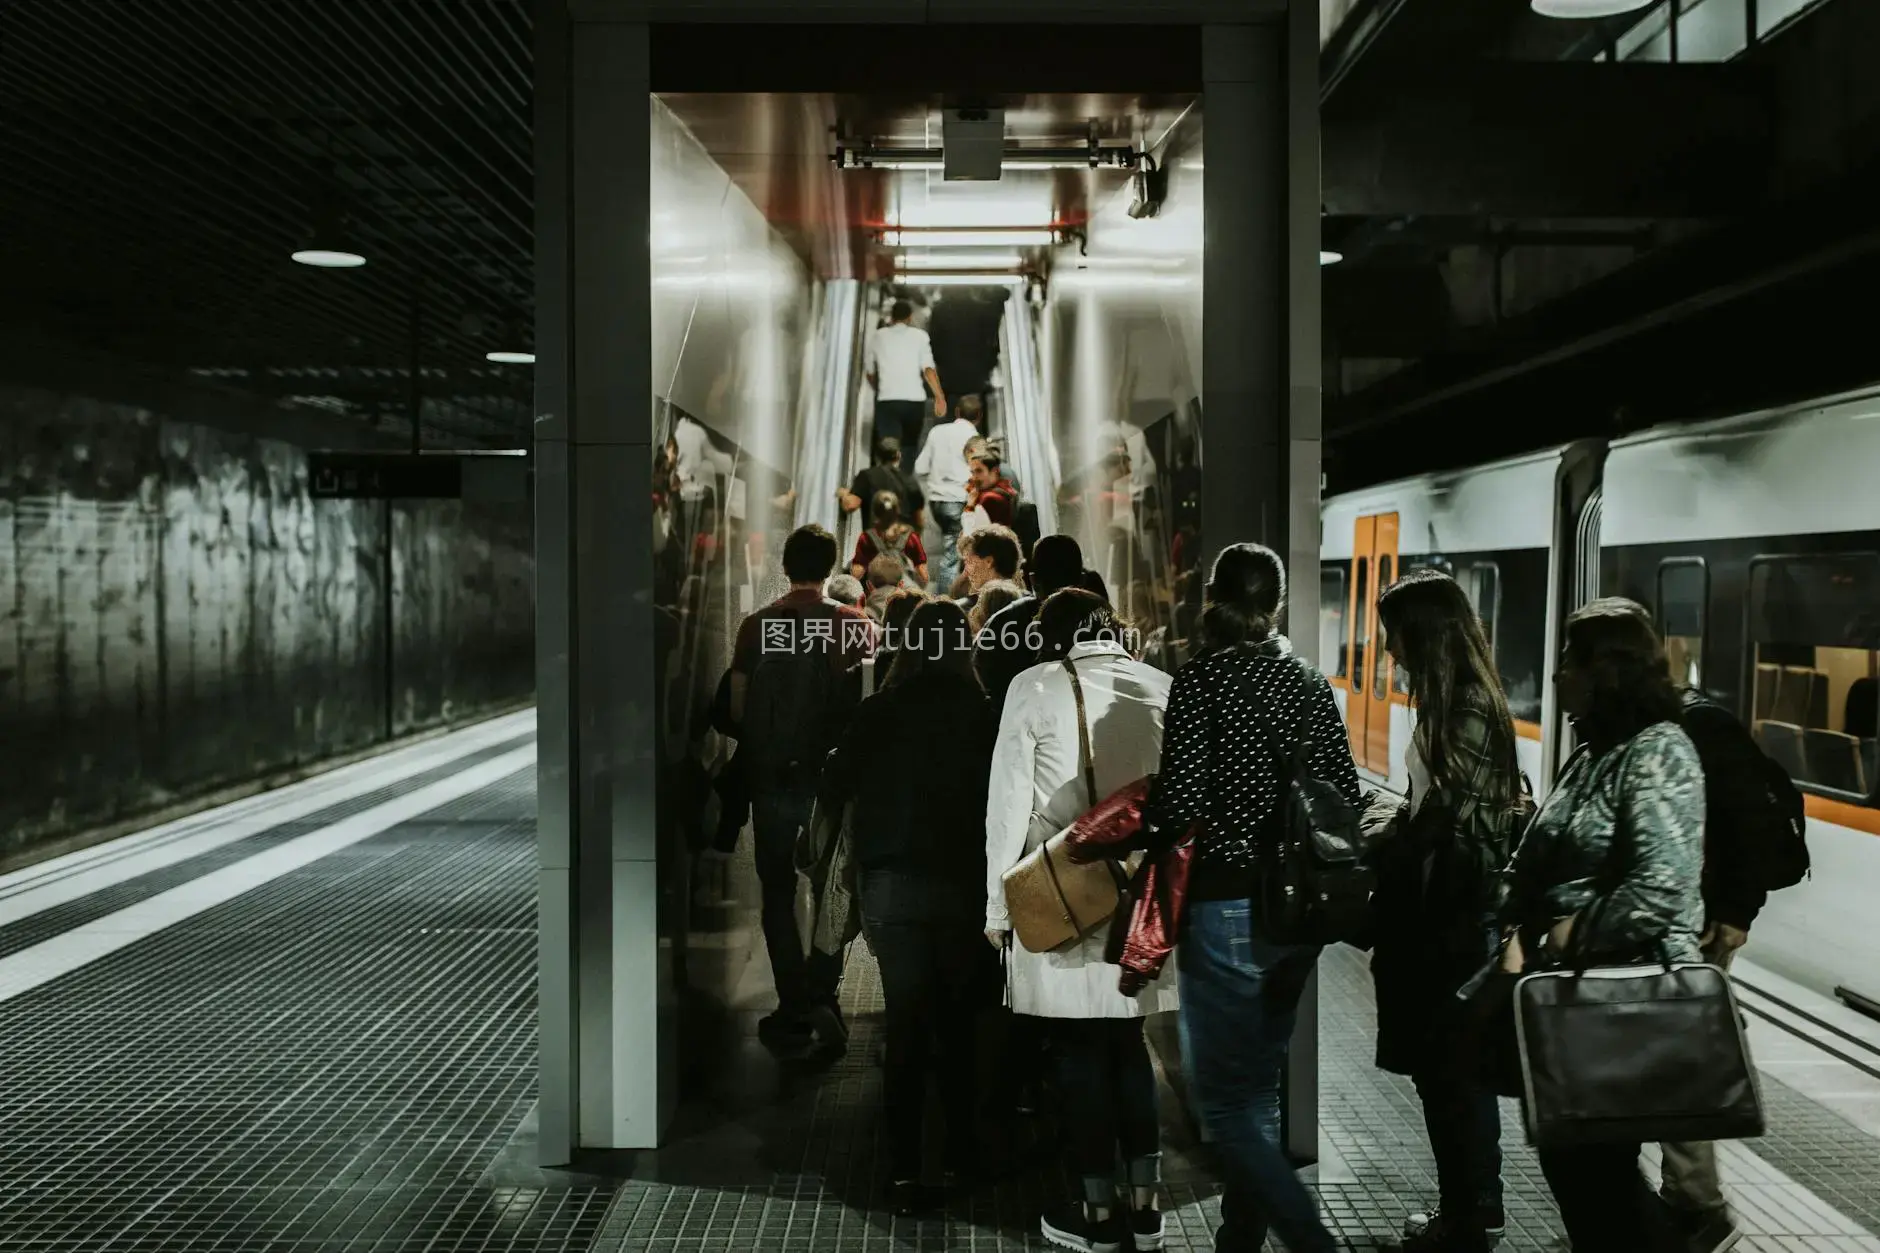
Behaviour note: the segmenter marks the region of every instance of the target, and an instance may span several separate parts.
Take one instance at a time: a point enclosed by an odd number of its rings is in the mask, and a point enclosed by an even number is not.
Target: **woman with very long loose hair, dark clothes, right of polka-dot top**
[[[1485,1253],[1506,1229],[1500,1110],[1461,1061],[1455,997],[1495,952],[1495,896],[1521,798],[1515,728],[1463,587],[1412,570],[1378,598],[1384,645],[1410,679],[1410,800],[1376,854],[1378,1067],[1408,1074],[1436,1157],[1436,1206],[1406,1253]]]

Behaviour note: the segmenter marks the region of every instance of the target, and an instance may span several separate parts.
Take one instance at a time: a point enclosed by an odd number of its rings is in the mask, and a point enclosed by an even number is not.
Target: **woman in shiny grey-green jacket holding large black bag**
[[[1700,961],[1703,768],[1651,615],[1619,596],[1577,610],[1553,681],[1581,747],[1508,865],[1502,969]],[[1575,1249],[1684,1247],[1637,1157],[1637,1140],[1540,1150]]]

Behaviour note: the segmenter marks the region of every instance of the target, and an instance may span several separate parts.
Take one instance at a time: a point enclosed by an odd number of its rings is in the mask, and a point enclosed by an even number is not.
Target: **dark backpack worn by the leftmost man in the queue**
[[[829,610],[835,604],[823,602]],[[801,632],[808,615],[788,621]],[[833,628],[842,630],[840,617]],[[791,642],[795,647],[790,651],[760,651],[744,687],[737,749],[752,792],[814,790],[848,713],[844,674],[829,664],[823,647],[807,643],[801,634],[793,634]],[[837,647],[837,642],[827,647]]]

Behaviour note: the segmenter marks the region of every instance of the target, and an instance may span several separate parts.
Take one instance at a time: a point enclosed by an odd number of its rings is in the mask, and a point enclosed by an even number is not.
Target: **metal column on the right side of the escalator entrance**
[[[1258,540],[1288,568],[1288,630],[1318,647],[1318,8],[1203,36],[1203,563]],[[1316,660],[1316,658],[1314,658]],[[1318,980],[1286,1091],[1286,1148],[1318,1161]]]

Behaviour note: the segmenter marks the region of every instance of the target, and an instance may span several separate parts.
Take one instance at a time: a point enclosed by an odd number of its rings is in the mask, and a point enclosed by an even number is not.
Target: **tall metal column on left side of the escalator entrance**
[[[649,30],[536,4],[540,1157],[675,1099],[654,828]]]

